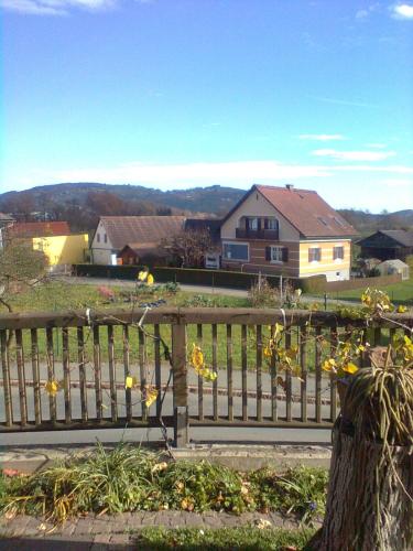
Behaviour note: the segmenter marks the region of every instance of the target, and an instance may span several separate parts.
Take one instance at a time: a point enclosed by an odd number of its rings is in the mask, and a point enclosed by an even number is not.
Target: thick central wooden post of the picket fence
[[[186,371],[186,325],[172,325],[174,446],[188,444],[188,388]]]

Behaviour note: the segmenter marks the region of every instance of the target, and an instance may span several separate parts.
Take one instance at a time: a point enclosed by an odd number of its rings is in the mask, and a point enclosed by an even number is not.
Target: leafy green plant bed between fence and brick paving
[[[135,510],[206,510],[241,514],[279,511],[304,522],[323,516],[327,472],[295,467],[285,473],[249,473],[202,461],[165,462],[128,444],[30,476],[2,477],[0,511],[46,515],[51,520]]]

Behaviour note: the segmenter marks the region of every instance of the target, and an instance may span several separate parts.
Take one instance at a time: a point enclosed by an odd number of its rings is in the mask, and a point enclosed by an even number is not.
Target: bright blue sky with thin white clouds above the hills
[[[413,208],[413,0],[0,0],[1,191],[294,183]]]

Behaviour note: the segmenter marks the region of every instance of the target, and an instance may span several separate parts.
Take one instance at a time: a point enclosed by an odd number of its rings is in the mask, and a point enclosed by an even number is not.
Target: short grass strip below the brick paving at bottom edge
[[[285,550],[303,549],[314,534],[312,529],[281,530],[257,527],[166,530],[148,528],[137,537],[140,550]]]

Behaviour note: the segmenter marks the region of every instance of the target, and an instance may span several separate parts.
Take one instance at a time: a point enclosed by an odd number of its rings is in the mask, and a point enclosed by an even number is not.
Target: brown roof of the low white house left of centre
[[[127,244],[159,244],[162,239],[178,234],[185,216],[102,216],[108,238],[115,249]]]

